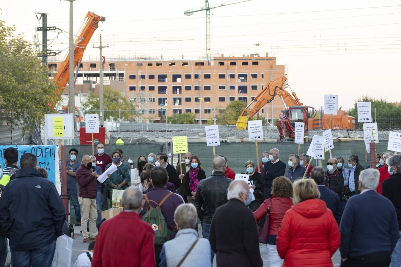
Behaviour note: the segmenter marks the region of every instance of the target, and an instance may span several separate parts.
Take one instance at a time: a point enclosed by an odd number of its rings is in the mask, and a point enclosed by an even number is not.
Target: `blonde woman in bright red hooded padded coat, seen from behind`
[[[333,266],[331,257],[340,246],[340,231],[333,213],[314,180],[294,182],[294,206],[286,212],[277,234],[277,251],[283,267]]]

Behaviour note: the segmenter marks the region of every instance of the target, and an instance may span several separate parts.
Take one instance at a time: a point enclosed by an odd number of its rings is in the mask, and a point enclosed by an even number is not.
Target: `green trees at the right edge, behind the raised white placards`
[[[396,106],[385,99],[376,99],[371,96],[363,96],[355,101],[353,108],[348,112],[350,116],[355,117],[356,128],[363,128],[363,123],[358,122],[358,102],[371,102],[372,121],[376,121],[379,129],[401,128],[401,106]]]

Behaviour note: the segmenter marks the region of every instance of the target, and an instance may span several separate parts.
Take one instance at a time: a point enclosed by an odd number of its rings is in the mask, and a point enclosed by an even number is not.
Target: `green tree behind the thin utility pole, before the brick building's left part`
[[[105,120],[118,120],[118,110],[121,110],[122,120],[134,121],[134,117],[138,114],[134,104],[128,102],[119,90],[106,87],[103,90],[103,103]],[[90,92],[82,106],[85,111],[98,112],[100,109],[99,94]]]

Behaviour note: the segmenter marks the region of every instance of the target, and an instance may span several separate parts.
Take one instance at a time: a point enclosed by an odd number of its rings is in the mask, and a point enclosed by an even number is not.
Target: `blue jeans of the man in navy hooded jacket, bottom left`
[[[11,249],[11,265],[18,267],[51,267],[56,240],[40,249],[28,251],[14,251]]]

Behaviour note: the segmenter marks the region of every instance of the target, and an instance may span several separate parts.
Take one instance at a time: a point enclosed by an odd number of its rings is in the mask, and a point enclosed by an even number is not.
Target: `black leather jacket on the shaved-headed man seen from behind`
[[[216,209],[227,203],[227,189],[232,181],[221,171],[214,171],[211,177],[199,181],[194,205],[203,223],[212,223]]]

